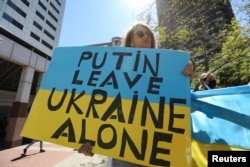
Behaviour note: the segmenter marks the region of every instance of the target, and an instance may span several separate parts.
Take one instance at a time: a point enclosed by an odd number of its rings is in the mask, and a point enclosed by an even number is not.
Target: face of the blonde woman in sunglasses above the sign
[[[137,26],[135,29],[131,46],[135,48],[151,48],[152,33],[143,26]]]

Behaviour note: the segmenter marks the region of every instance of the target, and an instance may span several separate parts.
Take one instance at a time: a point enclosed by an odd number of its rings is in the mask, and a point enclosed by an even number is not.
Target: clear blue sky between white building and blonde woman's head
[[[84,46],[124,37],[154,0],[66,0],[61,46]],[[140,19],[139,19],[140,20]]]

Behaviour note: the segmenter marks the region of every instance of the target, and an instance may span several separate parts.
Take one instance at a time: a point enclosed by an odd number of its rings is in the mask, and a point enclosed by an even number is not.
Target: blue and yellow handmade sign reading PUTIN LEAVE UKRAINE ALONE
[[[145,166],[191,164],[189,53],[56,48],[22,136]],[[178,158],[177,158],[178,157]]]

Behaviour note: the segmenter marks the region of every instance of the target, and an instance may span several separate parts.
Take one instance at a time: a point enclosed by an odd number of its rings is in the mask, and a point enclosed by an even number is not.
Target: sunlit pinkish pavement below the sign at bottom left
[[[108,167],[108,158],[95,154],[87,157],[71,148],[44,142],[46,152],[40,153],[39,142],[33,144],[26,155],[26,145],[0,151],[1,167]]]

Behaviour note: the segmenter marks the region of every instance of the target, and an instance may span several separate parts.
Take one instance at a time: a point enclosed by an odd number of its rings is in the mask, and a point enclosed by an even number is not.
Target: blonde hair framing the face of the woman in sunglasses
[[[151,28],[150,28],[147,24],[145,24],[145,23],[143,23],[143,22],[138,22],[138,23],[136,23],[134,26],[132,26],[132,27],[128,30],[128,32],[127,32],[127,34],[126,34],[126,36],[125,36],[125,38],[124,38],[124,41],[123,41],[124,46],[125,46],[125,47],[133,47],[133,46],[131,46],[131,41],[132,41],[133,34],[134,34],[134,32],[135,32],[135,30],[136,30],[136,28],[137,28],[138,26],[145,27],[145,28],[151,33],[151,36],[152,36],[151,48],[157,48],[157,44],[156,44],[156,40],[155,40],[155,36],[154,36],[153,31],[151,30]]]

